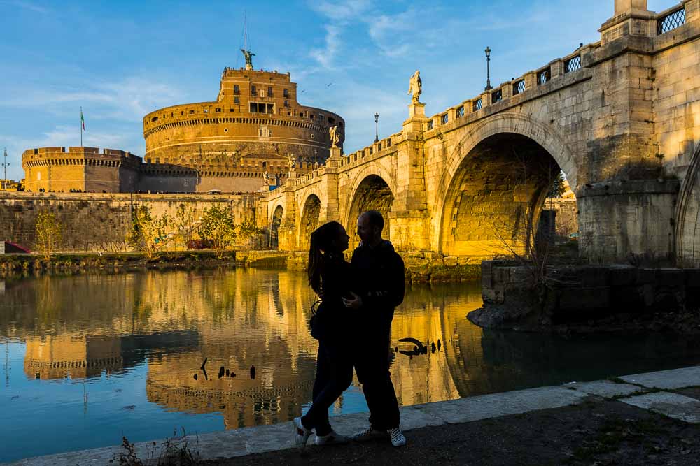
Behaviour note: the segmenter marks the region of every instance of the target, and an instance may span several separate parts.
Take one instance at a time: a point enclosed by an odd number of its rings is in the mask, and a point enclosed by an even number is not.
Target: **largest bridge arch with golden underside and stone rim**
[[[434,250],[488,257],[528,247],[559,170],[575,189],[576,163],[565,140],[527,115],[494,115],[469,128],[436,187]]]

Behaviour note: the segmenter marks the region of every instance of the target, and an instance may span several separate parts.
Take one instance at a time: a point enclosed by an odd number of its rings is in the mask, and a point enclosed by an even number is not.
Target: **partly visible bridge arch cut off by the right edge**
[[[675,254],[681,267],[700,266],[700,145],[696,147],[678,193]]]

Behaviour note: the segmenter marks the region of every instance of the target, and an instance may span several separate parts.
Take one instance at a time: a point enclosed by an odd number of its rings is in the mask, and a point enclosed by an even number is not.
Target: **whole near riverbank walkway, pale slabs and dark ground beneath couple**
[[[367,414],[332,418],[337,432]],[[407,446],[387,441],[293,448],[290,422],[189,439],[205,464],[673,464],[700,463],[700,366],[571,382],[401,408]],[[312,444],[311,437],[309,444]],[[135,445],[158,458],[164,441]],[[27,458],[13,465],[120,464],[123,446]],[[132,464],[132,463],[127,463]]]

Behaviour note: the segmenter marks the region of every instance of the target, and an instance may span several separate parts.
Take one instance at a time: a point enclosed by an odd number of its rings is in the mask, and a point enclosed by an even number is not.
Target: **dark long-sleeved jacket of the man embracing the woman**
[[[404,266],[390,241],[370,247],[360,243],[350,263],[353,291],[362,298],[360,328],[386,332],[391,328],[394,308],[403,301]]]

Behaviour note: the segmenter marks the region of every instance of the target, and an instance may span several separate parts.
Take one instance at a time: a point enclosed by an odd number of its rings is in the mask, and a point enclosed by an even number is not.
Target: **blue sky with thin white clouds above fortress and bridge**
[[[32,1],[0,0],[0,150],[84,144],[144,154],[141,118],[213,101],[239,67],[244,11],[255,68],[290,71],[302,105],[346,120],[346,152],[400,130],[410,75],[426,112],[598,41],[614,0]],[[649,0],[660,11],[677,0]],[[1,154],[0,154],[1,155]],[[1,162],[1,160],[0,160]],[[0,173],[1,177],[1,173]]]

